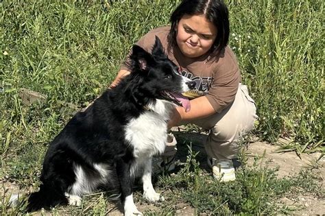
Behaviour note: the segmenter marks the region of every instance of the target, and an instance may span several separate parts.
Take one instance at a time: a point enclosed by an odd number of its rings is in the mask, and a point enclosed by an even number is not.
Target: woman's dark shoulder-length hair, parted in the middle
[[[168,35],[169,48],[176,45],[177,25],[184,15],[204,14],[206,19],[217,27],[217,38],[209,50],[219,54],[228,44],[229,19],[228,8],[221,0],[183,0],[171,14],[171,30]]]

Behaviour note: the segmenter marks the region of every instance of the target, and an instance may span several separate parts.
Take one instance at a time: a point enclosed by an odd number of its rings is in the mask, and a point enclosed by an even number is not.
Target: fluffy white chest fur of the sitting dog
[[[155,112],[145,112],[128,123],[125,139],[133,145],[136,158],[162,154],[167,139],[167,123]]]

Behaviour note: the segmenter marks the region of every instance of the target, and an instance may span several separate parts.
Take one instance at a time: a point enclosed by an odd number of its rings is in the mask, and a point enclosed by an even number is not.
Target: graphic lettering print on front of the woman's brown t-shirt
[[[213,82],[213,77],[200,77],[194,76],[193,73],[189,71],[180,70],[180,73],[195,82],[195,90],[190,91],[190,93],[186,94],[186,97],[195,98],[206,95],[208,90]]]

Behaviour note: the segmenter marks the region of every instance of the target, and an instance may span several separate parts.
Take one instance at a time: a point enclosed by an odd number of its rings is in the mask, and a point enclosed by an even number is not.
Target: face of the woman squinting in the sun
[[[184,15],[178,22],[176,42],[184,56],[195,58],[206,53],[215,42],[217,27],[204,15]]]

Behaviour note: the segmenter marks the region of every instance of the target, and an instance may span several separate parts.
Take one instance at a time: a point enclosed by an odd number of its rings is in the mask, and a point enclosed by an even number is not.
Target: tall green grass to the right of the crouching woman
[[[320,149],[324,1],[228,1],[228,6],[230,45],[256,100],[261,136],[267,141],[289,136]]]

